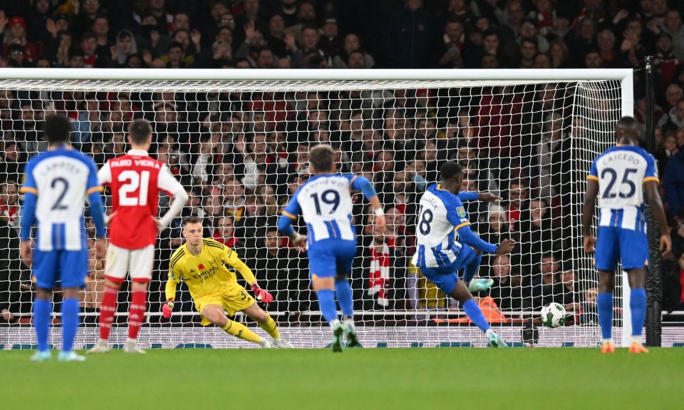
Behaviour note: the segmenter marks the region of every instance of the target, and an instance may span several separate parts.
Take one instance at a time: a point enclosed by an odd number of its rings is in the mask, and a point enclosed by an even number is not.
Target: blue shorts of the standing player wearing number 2
[[[33,276],[36,285],[52,289],[61,281],[61,287],[84,287],[88,276],[87,250],[34,250]]]

